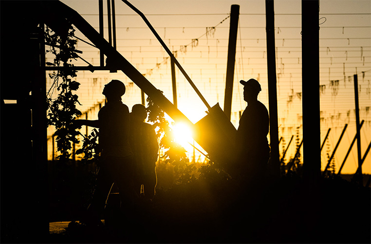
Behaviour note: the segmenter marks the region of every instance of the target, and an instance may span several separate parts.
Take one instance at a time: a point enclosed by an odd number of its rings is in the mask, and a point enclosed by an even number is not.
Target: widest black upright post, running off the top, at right
[[[315,184],[321,174],[319,116],[319,0],[301,0],[303,177]]]

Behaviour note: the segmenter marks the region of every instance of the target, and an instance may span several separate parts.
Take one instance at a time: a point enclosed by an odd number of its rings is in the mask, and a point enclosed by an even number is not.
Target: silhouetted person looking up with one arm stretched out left
[[[82,220],[86,224],[99,224],[113,183],[117,184],[121,209],[130,211],[133,200],[132,151],[129,143],[130,113],[121,102],[125,85],[112,80],[104,86],[102,94],[106,104],[98,112],[98,120],[76,120],[74,123],[99,128],[101,160],[96,188],[88,214]]]

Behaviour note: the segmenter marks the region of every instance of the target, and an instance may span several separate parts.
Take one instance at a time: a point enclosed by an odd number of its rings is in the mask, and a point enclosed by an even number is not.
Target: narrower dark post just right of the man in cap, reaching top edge
[[[275,10],[274,1],[265,1],[266,35],[267,35],[267,68],[268,68],[268,100],[269,100],[269,135],[271,158],[269,159],[272,176],[279,178],[279,142],[278,142],[278,111],[277,111],[277,77],[276,77],[276,44],[275,44]]]

